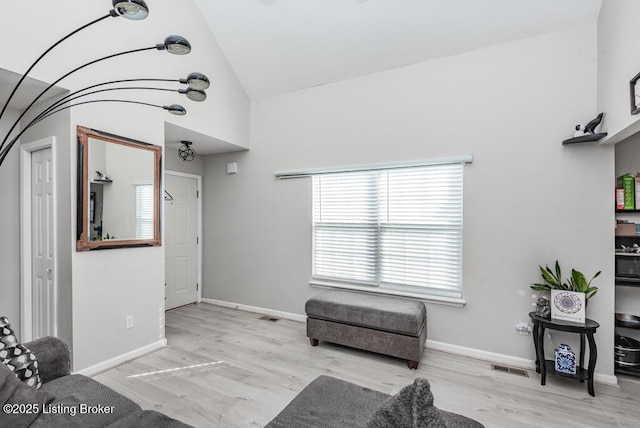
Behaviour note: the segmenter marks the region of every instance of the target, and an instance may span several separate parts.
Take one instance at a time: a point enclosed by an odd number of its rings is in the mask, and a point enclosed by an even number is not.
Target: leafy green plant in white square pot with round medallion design
[[[550,292],[551,318],[584,322],[587,302],[598,292],[598,287],[592,286],[591,282],[600,275],[601,271],[587,281],[582,272],[571,269],[571,276],[563,280],[562,270],[557,260],[555,270],[549,266],[538,267],[543,282],[534,283],[531,288]],[[538,307],[541,307],[541,302],[538,302]]]

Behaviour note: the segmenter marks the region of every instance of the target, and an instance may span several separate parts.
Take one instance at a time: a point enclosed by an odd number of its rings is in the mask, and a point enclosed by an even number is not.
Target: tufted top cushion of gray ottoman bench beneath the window
[[[307,300],[309,317],[418,336],[427,317],[417,300],[327,290]]]

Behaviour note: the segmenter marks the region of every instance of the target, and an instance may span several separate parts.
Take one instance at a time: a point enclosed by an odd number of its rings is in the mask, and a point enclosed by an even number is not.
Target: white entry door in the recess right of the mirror
[[[165,177],[165,309],[197,301],[198,180]]]

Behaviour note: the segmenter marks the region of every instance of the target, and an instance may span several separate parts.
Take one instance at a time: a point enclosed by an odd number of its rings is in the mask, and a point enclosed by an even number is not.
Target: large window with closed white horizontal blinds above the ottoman
[[[313,176],[313,278],[462,297],[461,163]]]

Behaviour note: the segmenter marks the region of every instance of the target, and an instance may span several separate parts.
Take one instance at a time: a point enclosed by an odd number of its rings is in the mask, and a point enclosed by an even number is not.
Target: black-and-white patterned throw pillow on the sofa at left
[[[38,359],[26,346],[18,342],[7,317],[0,317],[0,361],[27,385],[36,389],[42,385]]]

